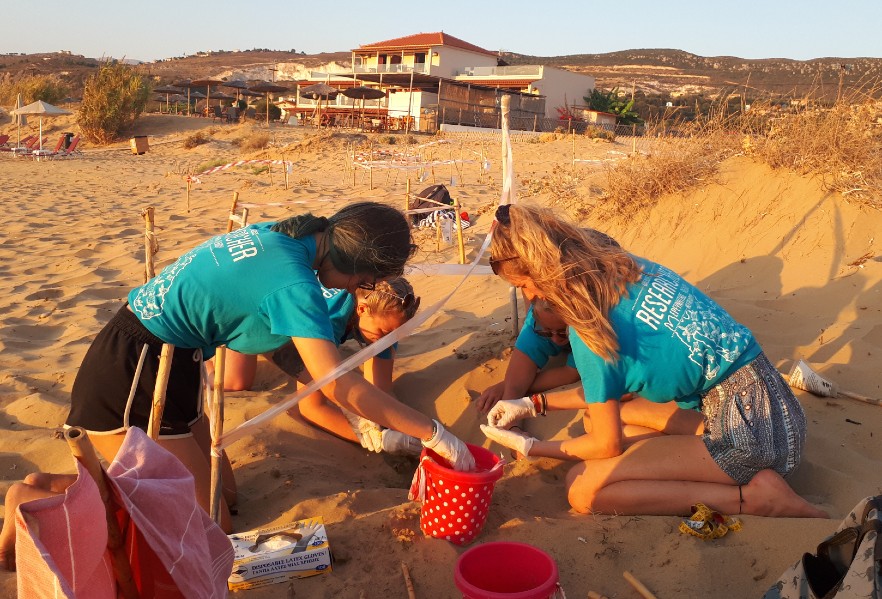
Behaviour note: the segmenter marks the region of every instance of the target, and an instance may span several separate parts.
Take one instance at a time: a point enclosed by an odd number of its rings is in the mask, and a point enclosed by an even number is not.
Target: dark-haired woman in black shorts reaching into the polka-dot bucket
[[[86,429],[98,451],[113,459],[127,428],[146,428],[159,354],[163,343],[173,344],[159,443],[193,473],[207,509],[202,361],[221,345],[258,354],[292,341],[310,376],[324,377],[341,359],[322,286],[372,289],[400,276],[413,251],[405,217],[374,202],[351,204],[328,218],[304,214],[213,237],[129,293],[83,359],[66,424]],[[344,373],[322,392],[346,410],[422,440],[459,470],[474,466],[465,444],[439,422],[358,374]],[[229,467],[224,482],[232,504]],[[222,512],[229,530],[229,514]]]

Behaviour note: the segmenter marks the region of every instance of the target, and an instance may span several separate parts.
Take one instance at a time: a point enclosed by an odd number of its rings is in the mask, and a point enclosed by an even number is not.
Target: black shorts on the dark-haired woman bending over
[[[147,357],[131,406],[127,406],[145,345]],[[162,340],[144,328],[128,304],[124,305],[98,333],[83,358],[74,380],[70,414],[65,424],[82,427],[91,434],[116,434],[132,426],[146,431],[162,345]],[[190,426],[202,415],[201,388],[202,351],[175,347],[161,435],[190,433]]]

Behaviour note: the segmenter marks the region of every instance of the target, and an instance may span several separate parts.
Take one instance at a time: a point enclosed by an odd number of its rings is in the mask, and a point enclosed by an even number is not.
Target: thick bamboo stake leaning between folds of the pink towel
[[[80,427],[75,426],[64,431],[64,438],[73,456],[98,485],[98,493],[104,504],[104,516],[107,519],[107,549],[110,551],[113,576],[116,578],[119,594],[125,599],[138,599],[138,587],[135,585],[132,565],[124,547],[125,538],[116,519],[115,502],[107,485],[107,474],[98,461],[98,454],[95,453],[86,431]]]

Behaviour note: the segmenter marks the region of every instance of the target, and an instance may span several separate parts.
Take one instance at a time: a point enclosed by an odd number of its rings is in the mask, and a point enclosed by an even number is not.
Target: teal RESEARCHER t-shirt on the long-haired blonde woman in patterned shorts
[[[747,327],[673,271],[636,258],[644,274],[609,314],[619,358],[607,362],[570,329],[586,403],[636,393],[699,408],[701,395],[760,354]]]

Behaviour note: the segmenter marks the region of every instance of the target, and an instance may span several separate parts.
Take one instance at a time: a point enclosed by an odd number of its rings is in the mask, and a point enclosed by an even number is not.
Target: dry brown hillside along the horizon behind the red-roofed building
[[[840,77],[843,90],[878,92],[882,87],[882,58],[744,59],[697,56],[670,49],[567,56],[503,53],[500,58],[510,65],[544,64],[587,73],[596,78],[600,88],[633,87],[647,95],[715,94],[719,90],[738,89],[755,98],[812,95],[832,100],[839,91]],[[138,68],[158,82],[169,83],[209,76],[284,80],[302,76],[310,69],[320,70],[330,63],[345,69],[350,64],[350,53],[214,52],[145,62]],[[99,64],[98,59],[66,53],[0,56],[0,72],[8,73],[7,76],[57,73],[70,84],[74,95]]]

